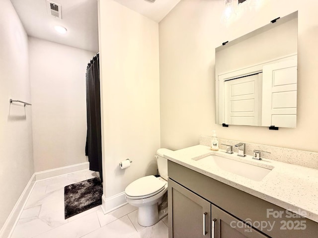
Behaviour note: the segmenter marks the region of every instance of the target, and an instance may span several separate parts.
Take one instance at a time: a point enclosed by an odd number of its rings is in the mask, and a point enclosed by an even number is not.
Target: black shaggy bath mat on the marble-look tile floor
[[[65,219],[101,204],[103,187],[98,178],[64,187]]]

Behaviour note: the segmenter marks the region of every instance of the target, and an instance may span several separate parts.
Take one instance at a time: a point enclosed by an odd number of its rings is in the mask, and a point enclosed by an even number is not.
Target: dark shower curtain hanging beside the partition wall
[[[99,54],[90,60],[86,68],[86,109],[87,135],[85,155],[88,156],[89,170],[99,172],[100,179],[103,181],[101,162]]]

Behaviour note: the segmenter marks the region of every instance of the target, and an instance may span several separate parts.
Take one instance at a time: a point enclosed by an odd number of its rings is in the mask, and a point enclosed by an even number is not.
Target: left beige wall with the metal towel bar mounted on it
[[[9,0],[0,14],[0,229],[33,174],[28,39]]]

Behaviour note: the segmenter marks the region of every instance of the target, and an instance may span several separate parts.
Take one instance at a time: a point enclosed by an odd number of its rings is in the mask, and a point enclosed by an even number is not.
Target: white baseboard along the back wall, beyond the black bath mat
[[[35,179],[38,181],[42,179],[49,179],[56,176],[71,174],[71,173],[79,172],[81,170],[88,170],[88,169],[89,169],[89,162],[84,162],[84,163],[80,163],[76,165],[56,168],[53,170],[36,172],[34,174],[35,174]]]

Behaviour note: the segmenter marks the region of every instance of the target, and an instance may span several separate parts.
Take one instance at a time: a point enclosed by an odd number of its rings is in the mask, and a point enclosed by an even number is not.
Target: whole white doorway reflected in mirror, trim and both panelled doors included
[[[218,87],[222,123],[296,127],[297,54],[218,75]]]

